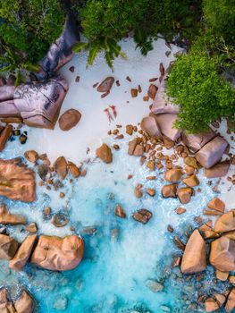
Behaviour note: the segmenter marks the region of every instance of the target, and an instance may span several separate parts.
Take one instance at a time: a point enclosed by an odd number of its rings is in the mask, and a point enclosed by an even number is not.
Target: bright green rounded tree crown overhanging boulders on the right
[[[235,121],[235,90],[217,71],[218,59],[206,53],[180,55],[167,80],[167,94],[180,105],[176,127],[195,133],[220,117]]]

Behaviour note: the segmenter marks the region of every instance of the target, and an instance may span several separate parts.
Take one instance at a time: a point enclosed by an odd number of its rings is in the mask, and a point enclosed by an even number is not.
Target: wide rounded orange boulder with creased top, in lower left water
[[[32,254],[31,263],[55,271],[70,270],[80,264],[83,250],[83,240],[77,235],[64,238],[42,235]]]

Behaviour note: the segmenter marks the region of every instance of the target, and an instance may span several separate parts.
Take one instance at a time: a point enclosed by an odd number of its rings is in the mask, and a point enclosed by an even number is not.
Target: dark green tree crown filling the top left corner
[[[38,62],[63,30],[64,13],[59,0],[1,0],[0,38],[5,46],[24,52]]]

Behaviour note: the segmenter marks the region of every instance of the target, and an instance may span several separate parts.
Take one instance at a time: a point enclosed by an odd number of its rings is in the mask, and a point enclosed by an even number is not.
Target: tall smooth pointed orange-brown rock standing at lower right
[[[193,274],[204,271],[206,268],[206,243],[202,236],[195,230],[189,237],[182,262],[181,272]]]

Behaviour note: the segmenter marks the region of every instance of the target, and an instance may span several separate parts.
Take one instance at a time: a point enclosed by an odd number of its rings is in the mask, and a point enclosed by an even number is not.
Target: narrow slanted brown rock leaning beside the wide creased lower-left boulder
[[[34,243],[36,241],[37,235],[29,235],[22,243],[20,248],[17,250],[14,258],[9,262],[9,267],[15,271],[21,271],[26,265],[31,251],[33,249]]]

